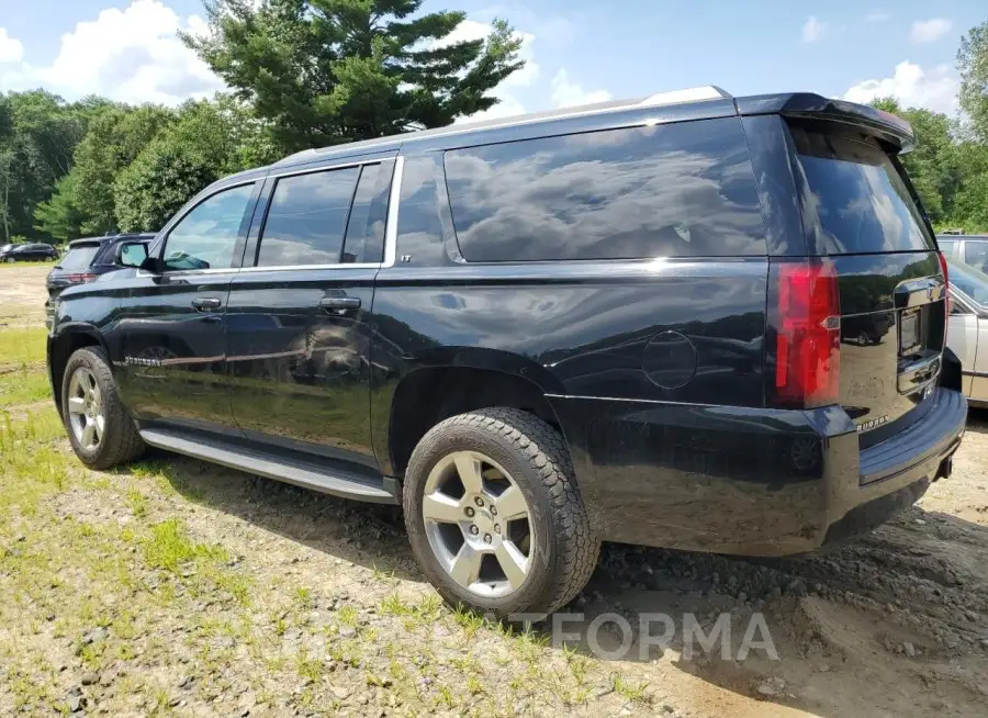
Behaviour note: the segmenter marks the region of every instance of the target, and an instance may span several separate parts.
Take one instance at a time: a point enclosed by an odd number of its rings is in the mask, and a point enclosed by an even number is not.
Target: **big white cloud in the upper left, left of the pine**
[[[176,36],[205,32],[197,16],[180,18],[160,0],[135,0],[111,8],[61,36],[47,66],[20,67],[0,75],[9,87],[44,87],[68,98],[98,93],[124,102],[178,104],[209,97],[223,82]]]

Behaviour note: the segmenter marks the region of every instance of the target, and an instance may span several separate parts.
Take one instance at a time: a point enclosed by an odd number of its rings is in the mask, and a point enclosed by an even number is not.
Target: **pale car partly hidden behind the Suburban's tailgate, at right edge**
[[[947,345],[961,359],[963,391],[975,406],[988,407],[988,274],[953,259],[951,328]]]

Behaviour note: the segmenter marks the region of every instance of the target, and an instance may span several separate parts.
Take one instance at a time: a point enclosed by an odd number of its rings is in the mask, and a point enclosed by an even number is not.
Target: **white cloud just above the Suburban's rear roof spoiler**
[[[905,60],[896,65],[892,77],[858,82],[844,93],[844,99],[869,102],[875,98],[894,97],[903,106],[955,114],[958,87],[959,82],[950,65],[938,65],[928,71]]]

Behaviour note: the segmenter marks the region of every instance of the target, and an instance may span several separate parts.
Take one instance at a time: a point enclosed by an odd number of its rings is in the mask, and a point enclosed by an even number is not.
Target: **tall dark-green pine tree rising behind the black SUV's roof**
[[[415,15],[423,0],[205,0],[209,35],[183,34],[285,149],[438,127],[493,106],[521,68],[502,20],[450,42],[463,12]]]

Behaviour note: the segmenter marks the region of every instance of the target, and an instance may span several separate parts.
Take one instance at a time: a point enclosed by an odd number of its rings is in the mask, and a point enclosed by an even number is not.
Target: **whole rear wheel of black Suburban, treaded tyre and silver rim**
[[[453,416],[419,441],[402,500],[412,549],[452,605],[547,615],[590,580],[600,542],[563,437],[515,408]]]

